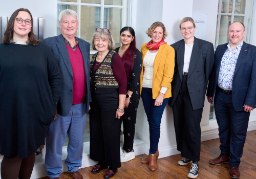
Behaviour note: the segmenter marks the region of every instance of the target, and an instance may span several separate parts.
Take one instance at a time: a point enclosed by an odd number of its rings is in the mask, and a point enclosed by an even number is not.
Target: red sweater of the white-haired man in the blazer
[[[86,73],[84,71],[84,64],[81,51],[77,44],[77,48],[73,51],[66,43],[69,58],[73,71],[73,103],[79,104],[86,102]],[[65,79],[63,79],[65,80]]]

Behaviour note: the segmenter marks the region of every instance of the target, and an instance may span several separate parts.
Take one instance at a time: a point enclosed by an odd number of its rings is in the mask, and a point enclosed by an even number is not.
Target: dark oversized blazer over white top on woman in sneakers
[[[182,39],[170,46],[175,50],[175,69],[173,81],[171,83],[172,97],[169,99],[168,105],[173,107],[181,86],[185,41]],[[187,88],[193,110],[204,107],[206,88],[213,66],[214,45],[211,42],[195,37],[187,76]]]

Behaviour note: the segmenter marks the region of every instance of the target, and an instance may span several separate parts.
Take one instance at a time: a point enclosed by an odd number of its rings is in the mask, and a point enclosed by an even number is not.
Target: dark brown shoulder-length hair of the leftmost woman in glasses
[[[29,36],[29,39],[27,40],[27,44],[32,44],[33,46],[37,46],[41,40],[36,40],[35,39],[35,34],[33,32],[33,17],[32,17],[32,14],[30,13],[30,11],[28,9],[24,9],[24,8],[20,8],[20,9],[17,9],[16,11],[13,12],[13,14],[11,15],[10,17],[10,20],[8,21],[8,24],[7,24],[7,28],[6,28],[6,31],[5,31],[5,34],[4,34],[4,38],[3,38],[3,42],[5,44],[9,44],[9,43],[15,43],[15,41],[13,41],[13,28],[14,28],[14,23],[15,23],[15,18],[17,17],[19,11],[25,11],[27,13],[29,13],[30,17],[31,17],[31,24],[32,24],[32,27],[31,27],[31,31],[29,32],[28,36]]]

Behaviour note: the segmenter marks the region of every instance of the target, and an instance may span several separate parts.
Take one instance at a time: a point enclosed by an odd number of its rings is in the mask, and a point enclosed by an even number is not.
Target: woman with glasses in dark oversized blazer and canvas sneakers
[[[172,98],[168,104],[173,108],[177,149],[184,157],[178,164],[193,162],[187,177],[196,178],[200,160],[200,122],[214,65],[214,46],[194,37],[196,25],[191,17],[183,18],[179,27],[184,39],[171,45],[175,50],[175,70]]]

